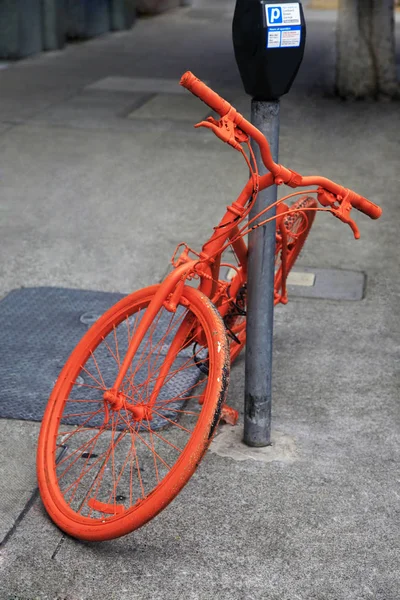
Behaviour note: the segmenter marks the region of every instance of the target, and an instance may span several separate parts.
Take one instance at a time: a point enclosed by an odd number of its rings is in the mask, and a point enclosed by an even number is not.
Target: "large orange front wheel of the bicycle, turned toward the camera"
[[[73,537],[111,539],[153,518],[187,483],[217,426],[229,379],[225,328],[209,299],[190,287],[176,312],[162,307],[148,327],[119,405],[104,398],[158,288],[110,308],[72,352],[50,396],[39,488],[50,517]],[[165,361],[151,412],[134,416],[130,408],[146,406]]]

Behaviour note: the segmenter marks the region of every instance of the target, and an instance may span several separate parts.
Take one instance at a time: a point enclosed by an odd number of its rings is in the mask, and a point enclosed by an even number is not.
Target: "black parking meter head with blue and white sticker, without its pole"
[[[236,0],[233,46],[244,89],[257,100],[286,94],[303,59],[306,25],[300,2]]]

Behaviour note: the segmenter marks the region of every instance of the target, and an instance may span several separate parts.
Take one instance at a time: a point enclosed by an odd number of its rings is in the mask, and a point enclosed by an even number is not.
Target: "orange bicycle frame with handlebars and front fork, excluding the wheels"
[[[121,365],[114,386],[109,392],[106,392],[106,399],[115,405],[118,405],[121,402],[118,390],[120,389],[135,352],[145,336],[147,328],[150,326],[162,306],[171,312],[176,311],[178,303],[182,299],[182,292],[187,280],[193,279],[194,277],[199,278],[199,290],[216,305],[221,317],[224,317],[227,314],[230,308],[229,299],[234,299],[236,297],[236,294],[246,281],[247,247],[242,237],[244,235],[243,230],[239,231],[238,226],[248,214],[249,206],[252,205],[252,202],[249,203],[249,199],[255,200],[253,194],[256,195],[259,190],[264,190],[274,184],[281,185],[285,183],[291,188],[317,186],[316,190],[311,191],[318,194],[318,200],[324,208],[315,210],[329,211],[344,223],[350,225],[355,238],[359,238],[360,234],[356,224],[350,218],[352,207],[358,208],[374,219],[378,218],[382,212],[378,206],[374,205],[366,198],[359,196],[352,190],[344,188],[325,177],[303,177],[299,173],[275,163],[272,159],[268,140],[264,135],[240,115],[228,102],[220,98],[218,94],[194,77],[192,73],[185,73],[181,79],[181,85],[189,89],[193,94],[199,96],[210,108],[215,110],[221,116],[219,121],[215,121],[215,119],[210,117],[207,121],[198,123],[196,127],[204,126],[211,129],[222,141],[240,151],[246,158],[246,162],[250,168],[251,177],[239,197],[227,207],[225,215],[221,219],[219,225],[215,228],[213,235],[203,245],[200,254],[197,254],[184,244],[182,253],[175,260],[175,256],[181,244],[179,244],[175,250],[172,257],[174,270],[161,283],[159,290],[150,302],[146,314],[141,320],[136,334],[130,342],[128,352]],[[250,148],[250,138],[258,144],[263,163],[269,171],[261,177],[258,176],[256,168],[255,170],[252,169],[250,161],[242,148],[243,143],[247,143]],[[277,206],[277,214],[272,217],[272,219],[277,220],[277,229],[281,233],[280,239],[282,243],[281,294],[279,295],[278,293],[275,295],[275,303],[279,301],[285,303],[287,301],[287,238],[285,236],[284,227],[280,227],[280,224],[283,215],[290,212],[290,210],[286,205],[282,205],[283,200],[284,199],[278,200],[275,203]],[[272,206],[273,205],[271,205],[271,207]],[[271,207],[261,211],[258,216],[268,211]],[[267,220],[269,219],[266,219],[265,222]],[[252,221],[254,221],[254,219],[252,219]],[[259,225],[260,223],[257,224],[257,226]],[[237,256],[239,268],[236,270],[236,275],[230,282],[224,282],[220,279],[221,255],[223,250],[229,245],[232,246]],[[193,259],[189,257],[190,252],[195,254],[197,258]],[[228,293],[228,288],[230,293]],[[173,351],[170,348],[167,353],[164,367],[161,369],[150,402],[146,406],[136,404],[129,409],[134,413],[134,418],[141,419],[144,418],[144,415],[150,416],[151,406],[154,404],[158,390],[163,384],[164,374],[167,373],[171,366],[174,352],[180,344],[184,345],[188,332],[190,332],[191,329],[192,324],[186,323],[186,321],[182,323],[176,338],[174,339],[174,343],[172,344]]]

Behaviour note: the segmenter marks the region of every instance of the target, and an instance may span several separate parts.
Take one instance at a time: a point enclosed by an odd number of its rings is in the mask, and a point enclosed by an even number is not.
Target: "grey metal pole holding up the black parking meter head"
[[[268,139],[278,161],[279,101],[251,101],[251,122]],[[267,172],[253,144],[259,174]],[[276,185],[261,191],[250,218],[276,202]],[[260,221],[276,213],[276,208]],[[249,234],[245,366],[244,438],[248,446],[271,443],[272,332],[274,317],[275,221]]]

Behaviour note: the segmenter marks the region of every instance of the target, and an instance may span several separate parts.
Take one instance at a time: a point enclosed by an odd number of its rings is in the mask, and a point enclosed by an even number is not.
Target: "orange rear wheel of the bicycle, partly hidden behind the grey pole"
[[[315,211],[304,209],[317,208],[317,201],[311,196],[302,196],[290,207],[292,214],[286,215],[283,219],[283,225],[287,233],[288,253],[286,258],[287,274],[290,273],[295,264],[310,232],[314,222]],[[299,210],[299,212],[295,212]],[[300,231],[300,233],[298,233]],[[281,266],[282,245],[277,242],[275,250],[275,278],[274,289],[279,291],[282,286],[282,266]],[[245,286],[244,286],[245,290]],[[230,358],[231,363],[239,356],[246,344],[246,316],[237,314],[236,306],[239,305],[239,311],[246,312],[246,294],[243,289],[239,292],[241,298],[236,297],[234,308],[225,317],[225,324],[228,326],[228,336],[230,337]],[[238,294],[239,295],[239,294]],[[237,338],[237,341],[235,340]]]

